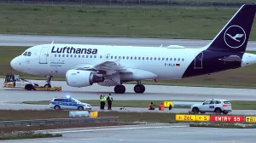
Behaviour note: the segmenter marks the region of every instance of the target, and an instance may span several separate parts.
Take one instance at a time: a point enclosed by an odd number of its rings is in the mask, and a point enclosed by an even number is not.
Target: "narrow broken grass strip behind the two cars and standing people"
[[[99,100],[81,100],[82,102],[89,103],[91,106],[100,106]],[[143,107],[148,108],[148,104],[154,102],[154,107],[158,108],[163,100],[115,100],[113,107]],[[175,102],[175,101],[174,101]],[[203,100],[195,100],[195,102],[203,102]],[[251,100],[231,100],[233,110],[256,110],[256,101]],[[24,101],[25,104],[38,104],[48,105],[49,100],[41,101]],[[174,106],[174,108],[188,108],[190,106]]]

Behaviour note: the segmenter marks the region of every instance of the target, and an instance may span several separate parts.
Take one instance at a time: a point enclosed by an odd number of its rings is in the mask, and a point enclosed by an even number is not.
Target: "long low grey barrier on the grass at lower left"
[[[117,123],[119,117],[75,117],[75,118],[50,118],[37,120],[0,121],[0,127],[10,126],[38,126],[70,123]]]

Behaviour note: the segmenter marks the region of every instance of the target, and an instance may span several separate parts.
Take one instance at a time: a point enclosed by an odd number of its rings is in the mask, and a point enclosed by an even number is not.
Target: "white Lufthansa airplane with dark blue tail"
[[[212,42],[199,49],[49,43],[26,49],[10,65],[32,75],[66,77],[72,87],[115,86],[116,94],[125,93],[123,83],[136,81],[134,91],[143,93],[142,80],[182,79],[256,63],[256,54],[245,53],[255,10],[255,4],[241,6]]]

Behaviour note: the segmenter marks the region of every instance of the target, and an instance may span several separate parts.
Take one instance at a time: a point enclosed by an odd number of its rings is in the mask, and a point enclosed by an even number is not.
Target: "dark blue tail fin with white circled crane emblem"
[[[245,52],[253,26],[256,4],[242,5],[218,35],[209,43],[207,50]]]

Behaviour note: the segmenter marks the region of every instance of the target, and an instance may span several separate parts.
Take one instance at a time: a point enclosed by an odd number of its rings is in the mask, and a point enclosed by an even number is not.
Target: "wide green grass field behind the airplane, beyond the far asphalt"
[[[0,4],[0,33],[212,39],[238,9]]]

